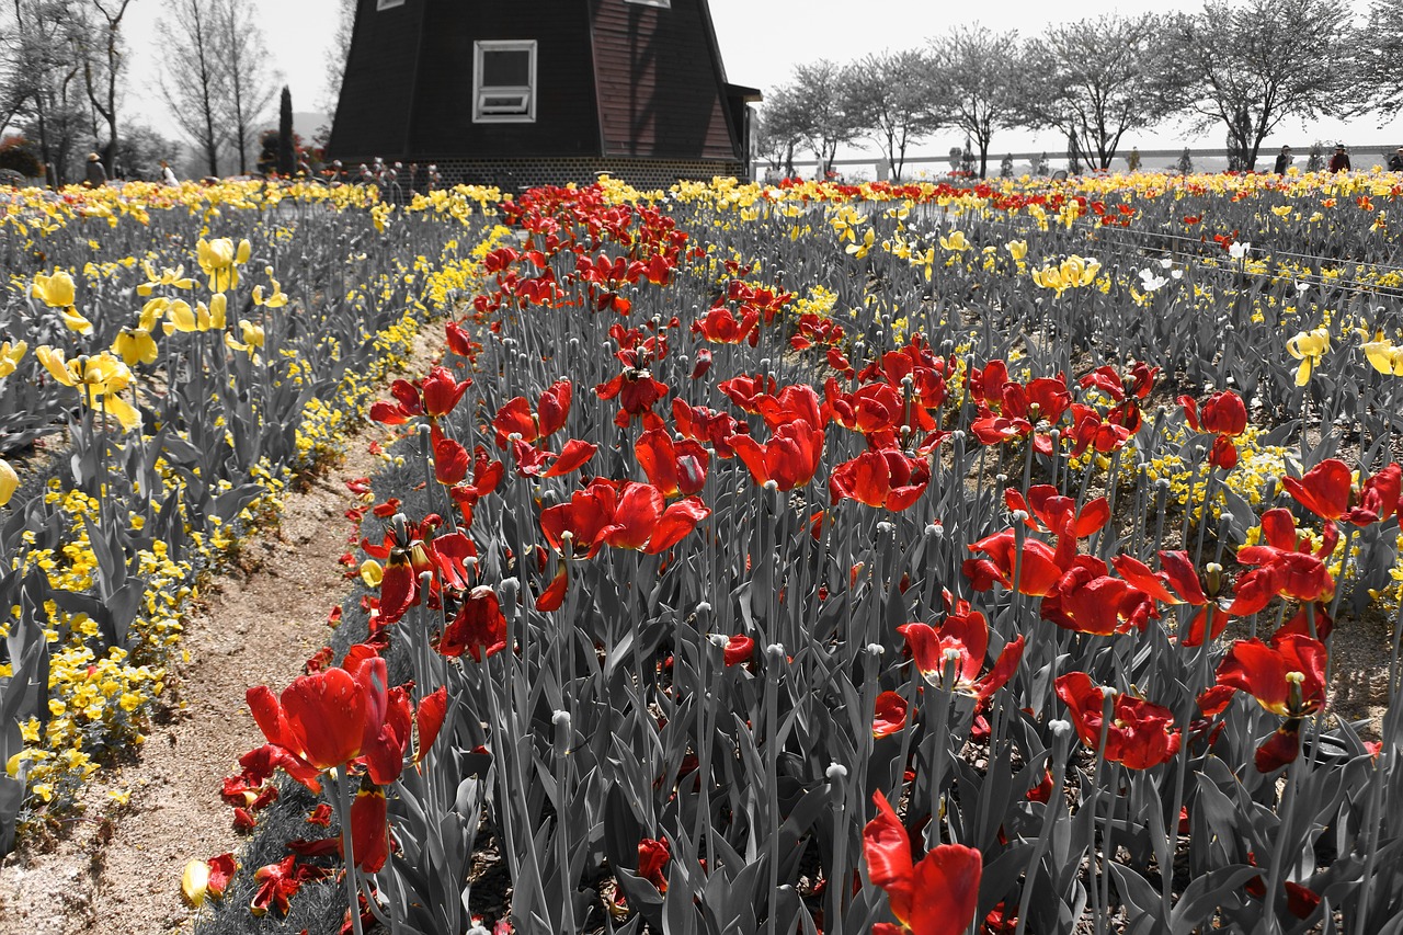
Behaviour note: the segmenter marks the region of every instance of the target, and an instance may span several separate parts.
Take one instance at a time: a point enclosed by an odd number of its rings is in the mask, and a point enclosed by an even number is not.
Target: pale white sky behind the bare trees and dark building
[[[292,88],[293,110],[318,111],[325,98],[325,56],[334,32],[335,14],[341,0],[246,0],[257,10],[267,38],[269,63],[279,80]],[[462,3],[464,0],[453,0]],[[487,0],[512,3],[522,0]],[[1193,11],[1201,0],[1079,0],[1075,11],[1047,0],[1003,0],[996,7],[981,4],[934,4],[930,0],[710,0],[711,18],[721,44],[728,80],[762,90],[783,83],[801,62],[821,58],[847,62],[868,52],[913,48],[926,37],[957,22],[982,21],[998,29],[1019,29],[1021,35],[1035,35],[1051,22],[1090,18],[1106,13],[1136,13],[1141,10]],[[128,37],[132,51],[132,93],[129,111],[142,122],[177,136],[159,93],[161,69],[156,22],[163,0],[133,0],[128,13]],[[1364,10],[1367,0],[1352,0]],[[860,15],[854,15],[860,10]],[[984,14],[984,15],[981,15]],[[275,117],[269,115],[269,125]],[[299,126],[299,132],[309,128]],[[316,128],[310,128],[316,129]],[[1267,138],[1264,152],[1282,143],[1302,153],[1313,140],[1344,139],[1351,149],[1379,150],[1403,145],[1403,121],[1383,128],[1376,118],[1352,122],[1319,121],[1305,125],[1285,121]],[[951,146],[961,145],[962,135],[944,131],[918,143],[913,154],[939,156]],[[1222,147],[1223,133],[1190,135],[1181,125],[1169,124],[1153,131],[1128,136],[1122,147],[1179,149]],[[1040,152],[1056,153],[1065,142],[1051,132],[1006,131],[995,133],[993,153]],[[916,153],[919,150],[919,153]],[[856,156],[857,152],[839,153]]]

